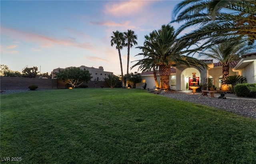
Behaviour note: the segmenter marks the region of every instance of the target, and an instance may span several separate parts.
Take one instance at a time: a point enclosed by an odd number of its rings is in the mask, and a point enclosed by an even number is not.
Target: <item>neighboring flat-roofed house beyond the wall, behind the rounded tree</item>
[[[72,67],[70,67],[72,68]],[[104,81],[105,77],[108,77],[108,74],[113,75],[113,72],[107,72],[104,71],[103,67],[100,66],[99,68],[94,68],[94,67],[86,67],[84,65],[81,65],[79,67],[80,69],[86,69],[88,70],[91,74],[92,74],[92,81],[96,80],[96,81]],[[55,73],[57,73],[59,70],[63,70],[64,68],[56,68],[52,71],[52,79],[54,79],[55,77]]]

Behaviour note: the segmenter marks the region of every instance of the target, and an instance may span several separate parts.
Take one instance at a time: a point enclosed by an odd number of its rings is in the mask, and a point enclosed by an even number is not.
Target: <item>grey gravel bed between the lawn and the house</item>
[[[180,92],[166,92],[161,93],[165,97],[189,101],[202,105],[208,105],[225,111],[230,111],[238,115],[252,117],[256,119],[256,100],[255,99],[218,99],[218,97],[202,96],[201,93],[180,93]]]

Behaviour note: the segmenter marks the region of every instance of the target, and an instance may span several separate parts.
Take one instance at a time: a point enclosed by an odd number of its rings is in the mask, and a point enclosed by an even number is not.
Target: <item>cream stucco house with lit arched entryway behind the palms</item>
[[[220,89],[222,80],[222,63],[213,63],[212,59],[202,60],[208,68],[199,70],[196,67],[186,67],[186,65],[180,65],[178,67],[171,68],[170,75],[170,89],[173,90],[185,90],[186,83],[189,86],[192,85],[192,73],[196,73],[196,79],[199,83],[202,83],[206,77],[213,80],[213,84],[217,89]],[[248,83],[256,83],[256,53],[250,53],[242,55],[240,61],[232,61],[230,63],[229,75],[242,75],[246,77]],[[153,71],[140,74],[142,76],[142,82],[136,84],[136,88],[142,88],[144,84],[147,84],[147,88],[155,89],[155,81]],[[157,73],[158,83],[160,83],[160,76]]]

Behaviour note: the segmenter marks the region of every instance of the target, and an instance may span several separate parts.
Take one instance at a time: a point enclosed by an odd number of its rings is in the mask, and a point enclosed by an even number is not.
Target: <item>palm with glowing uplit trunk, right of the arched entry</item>
[[[229,75],[230,63],[239,60],[240,56],[255,50],[255,45],[248,45],[246,42],[229,41],[219,43],[207,49],[208,52],[202,52],[199,56],[206,56],[218,60],[222,63],[222,83],[220,90],[228,90],[228,84],[225,83]]]

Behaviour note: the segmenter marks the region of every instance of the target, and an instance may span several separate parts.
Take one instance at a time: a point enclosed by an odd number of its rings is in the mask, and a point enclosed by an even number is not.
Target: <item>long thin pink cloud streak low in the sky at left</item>
[[[40,43],[41,47],[45,47],[45,45],[64,45],[70,47],[79,47],[82,49],[90,49],[95,50],[95,48],[90,43],[77,43],[74,40],[67,40],[67,39],[56,39],[51,38],[48,36],[42,36],[38,34],[33,34],[29,32],[24,32],[12,28],[6,28],[1,26],[1,34],[10,36],[15,39],[32,42],[32,43]]]

